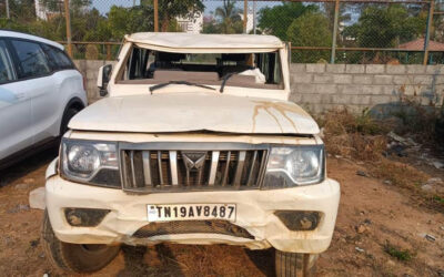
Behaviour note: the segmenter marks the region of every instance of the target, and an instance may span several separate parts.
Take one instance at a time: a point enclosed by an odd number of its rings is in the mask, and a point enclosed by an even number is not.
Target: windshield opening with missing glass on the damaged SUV
[[[133,47],[119,83],[196,84],[283,89],[279,51],[269,53],[171,53]]]

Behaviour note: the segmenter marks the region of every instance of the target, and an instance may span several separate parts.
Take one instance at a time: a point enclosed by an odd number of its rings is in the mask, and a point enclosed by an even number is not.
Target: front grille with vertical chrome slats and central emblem
[[[123,189],[155,192],[260,187],[266,146],[202,143],[178,144],[181,150],[172,146],[175,145],[120,145]]]

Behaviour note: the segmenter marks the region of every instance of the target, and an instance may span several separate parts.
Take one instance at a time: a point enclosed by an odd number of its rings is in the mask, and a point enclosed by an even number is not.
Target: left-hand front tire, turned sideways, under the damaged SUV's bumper
[[[100,270],[111,263],[120,250],[120,246],[68,244],[59,240],[52,230],[47,211],[44,211],[41,238],[51,264],[65,271]]]

